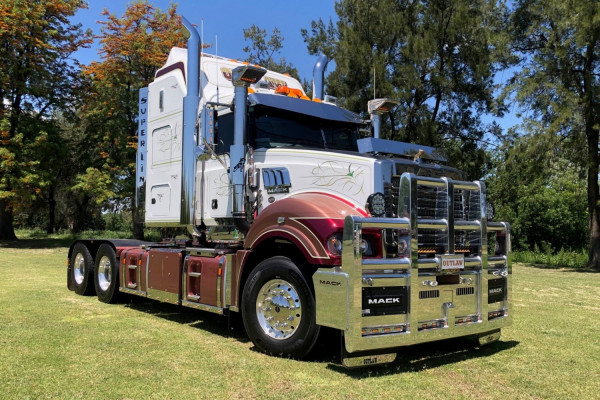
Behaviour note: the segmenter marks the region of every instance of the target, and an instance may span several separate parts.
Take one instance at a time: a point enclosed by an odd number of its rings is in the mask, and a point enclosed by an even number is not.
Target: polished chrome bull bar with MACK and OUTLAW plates
[[[400,182],[397,215],[402,217],[345,218],[342,265],[320,268],[313,276],[317,323],[343,331],[349,353],[482,334],[510,325],[510,226],[487,222],[483,182],[408,173]],[[419,185],[445,189],[448,211],[444,218],[419,217]],[[455,220],[454,189],[479,192],[477,220]],[[408,232],[408,252],[363,258],[362,232],[367,228]],[[419,229],[447,232],[446,253],[420,257]],[[454,232],[460,230],[477,233],[479,253],[464,257],[460,270],[443,270],[441,260],[455,254]],[[502,254],[488,255],[488,233],[504,240]]]

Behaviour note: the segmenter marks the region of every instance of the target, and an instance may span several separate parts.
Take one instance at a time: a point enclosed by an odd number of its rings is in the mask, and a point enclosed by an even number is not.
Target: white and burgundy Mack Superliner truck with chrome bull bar
[[[68,287],[232,316],[254,345],[302,358],[321,327],[341,362],[511,323],[510,230],[486,189],[434,148],[384,140],[375,99],[361,119],[285,74],[202,54],[196,29],[140,91],[137,206],[161,243],[77,240]],[[365,127],[372,134],[364,136]]]

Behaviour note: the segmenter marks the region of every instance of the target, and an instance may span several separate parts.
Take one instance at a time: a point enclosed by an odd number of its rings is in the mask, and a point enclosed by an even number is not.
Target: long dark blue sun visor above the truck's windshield
[[[252,93],[248,95],[248,100],[253,105],[278,108],[321,119],[353,124],[360,124],[362,122],[359,116],[355,113],[331,104],[317,103],[310,100],[302,100],[283,95],[272,95],[265,93]]]

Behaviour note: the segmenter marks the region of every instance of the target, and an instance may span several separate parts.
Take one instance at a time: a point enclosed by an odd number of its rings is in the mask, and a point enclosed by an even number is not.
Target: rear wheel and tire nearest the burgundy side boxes
[[[96,253],[94,285],[98,300],[115,303],[119,295],[119,263],[113,247],[104,243]]]

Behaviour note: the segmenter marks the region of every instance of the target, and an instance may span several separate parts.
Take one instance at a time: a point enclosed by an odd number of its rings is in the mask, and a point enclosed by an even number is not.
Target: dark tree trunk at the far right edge
[[[590,247],[588,267],[600,271],[600,192],[598,188],[598,129],[586,129],[588,145],[588,210],[590,214]]]

